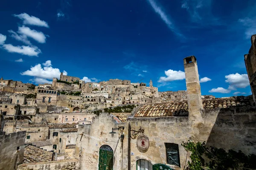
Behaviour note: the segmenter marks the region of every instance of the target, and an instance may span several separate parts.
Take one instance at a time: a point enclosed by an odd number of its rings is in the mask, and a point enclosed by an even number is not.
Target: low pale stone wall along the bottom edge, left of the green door
[[[79,170],[78,159],[20,164],[17,170]]]

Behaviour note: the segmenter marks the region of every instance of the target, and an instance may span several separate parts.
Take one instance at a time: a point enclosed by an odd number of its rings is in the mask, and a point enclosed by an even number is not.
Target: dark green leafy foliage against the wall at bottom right
[[[256,169],[256,155],[245,155],[239,150],[228,150],[210,146],[205,142],[188,140],[181,144],[186,151],[191,152],[188,161],[190,170],[246,170]]]

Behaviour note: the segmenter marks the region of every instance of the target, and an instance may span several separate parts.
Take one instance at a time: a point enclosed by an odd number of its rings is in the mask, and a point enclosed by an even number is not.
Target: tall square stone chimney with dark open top
[[[201,87],[196,58],[195,56],[189,56],[184,58],[183,62],[186,77],[189,118],[199,119],[202,117],[201,111],[204,108],[201,99]]]

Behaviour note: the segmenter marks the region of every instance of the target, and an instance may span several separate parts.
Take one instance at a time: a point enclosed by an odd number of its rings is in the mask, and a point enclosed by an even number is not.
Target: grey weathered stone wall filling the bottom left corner
[[[23,162],[26,132],[0,134],[0,170],[14,170]]]

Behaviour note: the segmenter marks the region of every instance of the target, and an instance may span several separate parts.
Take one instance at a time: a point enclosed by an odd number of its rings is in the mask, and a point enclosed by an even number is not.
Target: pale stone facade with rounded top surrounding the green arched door
[[[114,151],[113,169],[121,169],[122,161],[121,142],[119,133],[111,135],[112,127],[116,128],[117,123],[112,116],[102,113],[93,120],[92,125],[79,125],[78,139],[76,147],[80,149],[80,167],[81,170],[97,170],[99,164],[99,148],[107,144]],[[117,131],[116,131],[117,132]],[[80,135],[84,133],[83,135]],[[125,170],[125,169],[124,169]]]

